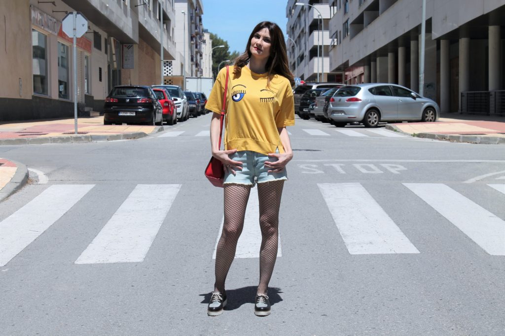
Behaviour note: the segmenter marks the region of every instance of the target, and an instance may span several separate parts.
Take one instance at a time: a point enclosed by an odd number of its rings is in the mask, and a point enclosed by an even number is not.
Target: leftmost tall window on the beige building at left
[[[47,95],[47,36],[32,29],[33,93]]]

